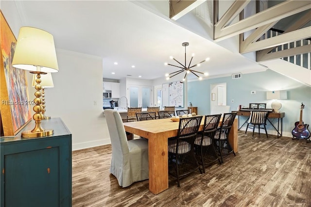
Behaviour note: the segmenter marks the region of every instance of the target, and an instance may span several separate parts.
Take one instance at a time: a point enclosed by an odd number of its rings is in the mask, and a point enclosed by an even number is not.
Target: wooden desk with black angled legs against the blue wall
[[[239,130],[244,126],[244,124],[248,121],[248,119],[246,119],[246,121],[242,124],[242,126],[240,127],[240,116],[250,116],[251,111],[232,111],[232,112],[237,112],[237,116],[238,116],[238,127]],[[274,127],[274,129],[276,129],[277,132],[277,138],[278,136],[282,136],[282,132],[283,132],[283,118],[285,116],[285,112],[269,112],[268,113],[268,121],[270,122],[271,126]],[[277,128],[271,123],[270,119],[277,119]],[[279,122],[279,120],[281,119],[281,124]],[[279,127],[281,127],[281,130],[279,130]]]

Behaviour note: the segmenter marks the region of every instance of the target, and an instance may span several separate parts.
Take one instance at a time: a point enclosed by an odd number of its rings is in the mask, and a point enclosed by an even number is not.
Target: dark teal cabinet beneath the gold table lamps
[[[1,207],[71,206],[71,133],[60,118],[41,126],[54,134],[22,139],[19,132],[0,139]]]

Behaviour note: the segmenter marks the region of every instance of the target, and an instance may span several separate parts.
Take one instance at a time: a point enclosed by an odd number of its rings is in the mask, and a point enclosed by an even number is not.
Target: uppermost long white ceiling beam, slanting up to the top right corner
[[[219,25],[215,26],[214,40],[221,41],[242,32],[246,32],[278,21],[287,16],[297,14],[307,9],[311,9],[310,1],[287,0],[253,16],[242,19],[235,24],[226,26],[225,28],[221,28]]]

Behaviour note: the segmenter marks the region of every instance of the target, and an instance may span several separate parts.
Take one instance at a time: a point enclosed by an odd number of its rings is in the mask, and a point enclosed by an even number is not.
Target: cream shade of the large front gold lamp
[[[33,27],[21,27],[12,66],[30,71],[58,72],[52,34]]]

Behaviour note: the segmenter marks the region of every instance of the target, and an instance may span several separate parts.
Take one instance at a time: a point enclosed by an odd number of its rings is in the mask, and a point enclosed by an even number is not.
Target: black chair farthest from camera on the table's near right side
[[[222,162],[224,162],[223,157],[229,155],[230,153],[233,153],[235,156],[235,152],[233,151],[228,138],[236,115],[236,112],[224,113],[222,124],[217,128],[216,135],[214,137],[215,147]]]

